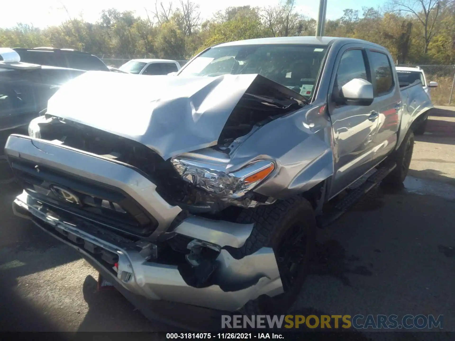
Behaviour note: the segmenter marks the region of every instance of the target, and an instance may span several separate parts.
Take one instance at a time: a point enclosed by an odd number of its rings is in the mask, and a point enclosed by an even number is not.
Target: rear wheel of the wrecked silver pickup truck
[[[408,175],[409,166],[411,164],[412,152],[414,150],[414,133],[410,129],[404,136],[403,142],[397,150],[389,156],[390,161],[396,163],[396,167],[382,181],[383,185],[397,186],[401,185]]]

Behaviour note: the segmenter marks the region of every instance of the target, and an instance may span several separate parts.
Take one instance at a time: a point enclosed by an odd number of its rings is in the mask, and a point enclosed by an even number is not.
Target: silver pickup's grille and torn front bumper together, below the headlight
[[[90,257],[127,290],[224,311],[283,292],[271,248],[236,259],[253,224],[189,215],[167,204],[145,175],[101,156],[20,135],[9,137],[6,152],[25,188],[15,214]]]

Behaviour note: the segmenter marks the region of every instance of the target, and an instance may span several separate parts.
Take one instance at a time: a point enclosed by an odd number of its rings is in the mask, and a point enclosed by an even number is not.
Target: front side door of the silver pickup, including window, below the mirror
[[[335,169],[329,197],[333,197],[364,175],[374,165],[374,136],[378,129],[377,106],[335,103],[334,91],[361,78],[371,83],[367,51],[354,44],[345,45],[335,60],[329,88],[329,115],[334,134]]]

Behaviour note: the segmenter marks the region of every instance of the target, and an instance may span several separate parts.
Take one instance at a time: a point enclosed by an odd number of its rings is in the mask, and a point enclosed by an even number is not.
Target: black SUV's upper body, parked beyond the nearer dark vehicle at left
[[[87,52],[53,47],[14,48],[25,63],[59,66],[77,70],[109,71],[98,57]]]

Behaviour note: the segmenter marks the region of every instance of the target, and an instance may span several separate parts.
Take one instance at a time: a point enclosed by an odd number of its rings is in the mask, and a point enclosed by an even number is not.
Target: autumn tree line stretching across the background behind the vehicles
[[[295,9],[295,0],[270,7],[228,7],[202,20],[191,0],[155,2],[146,16],[103,10],[97,22],[68,19],[39,29],[27,24],[0,29],[0,46],[72,48],[122,58],[188,59],[206,47],[232,40],[315,35],[316,20]],[[326,36],[385,46],[399,62],[455,64],[454,0],[390,0],[384,8],[345,9],[326,20]]]

